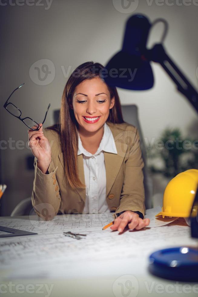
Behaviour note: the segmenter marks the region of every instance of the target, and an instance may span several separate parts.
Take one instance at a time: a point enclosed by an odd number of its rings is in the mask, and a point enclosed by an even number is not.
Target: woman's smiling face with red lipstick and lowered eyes
[[[101,78],[81,82],[74,90],[71,108],[79,124],[79,131],[96,132],[107,121],[109,110],[114,106],[107,85]]]

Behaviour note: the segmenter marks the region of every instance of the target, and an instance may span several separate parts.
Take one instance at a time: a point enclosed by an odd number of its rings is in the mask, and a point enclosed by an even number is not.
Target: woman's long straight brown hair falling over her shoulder
[[[103,65],[91,61],[79,65],[72,72],[63,91],[58,125],[48,127],[49,129],[56,130],[60,135],[65,175],[72,189],[85,187],[78,176],[78,122],[74,116],[74,110],[70,108],[72,106],[74,90],[77,85],[86,79],[101,77],[100,73],[102,69],[104,69]],[[107,122],[123,123],[124,120],[117,89],[108,85],[107,88],[110,92],[111,99],[113,97],[115,98],[115,104],[109,110]]]

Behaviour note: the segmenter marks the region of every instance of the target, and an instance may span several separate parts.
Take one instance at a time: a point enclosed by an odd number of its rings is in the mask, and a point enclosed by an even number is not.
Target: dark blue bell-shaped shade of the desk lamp
[[[144,56],[150,22],[144,15],[131,16],[126,24],[122,50],[115,54],[101,75],[111,86],[129,90],[153,87],[153,72]]]

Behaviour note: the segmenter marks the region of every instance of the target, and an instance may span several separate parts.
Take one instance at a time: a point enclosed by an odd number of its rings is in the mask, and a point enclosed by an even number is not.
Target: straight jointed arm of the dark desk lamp
[[[173,82],[177,85],[177,89],[181,92],[194,106],[198,112],[198,93],[183,75],[180,69],[166,54],[162,44],[156,44],[151,50],[147,51],[146,58],[153,62],[158,62],[168,73]]]

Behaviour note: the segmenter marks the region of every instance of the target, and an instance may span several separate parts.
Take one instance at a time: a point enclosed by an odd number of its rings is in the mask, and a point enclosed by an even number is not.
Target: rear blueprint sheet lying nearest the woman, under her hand
[[[173,222],[177,218],[162,219],[155,218],[155,215],[161,211],[160,207],[154,209],[148,209],[145,217],[150,219],[150,225],[148,227],[160,227]],[[42,221],[37,215],[21,217],[0,217],[0,225],[35,232],[38,234],[51,234],[61,232],[93,232],[101,231],[102,228],[108,223],[114,220],[112,213],[98,213],[98,214],[64,214],[56,215],[51,221]],[[110,228],[106,229],[111,231]]]

